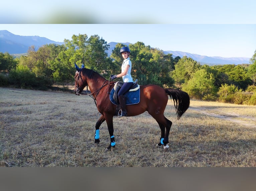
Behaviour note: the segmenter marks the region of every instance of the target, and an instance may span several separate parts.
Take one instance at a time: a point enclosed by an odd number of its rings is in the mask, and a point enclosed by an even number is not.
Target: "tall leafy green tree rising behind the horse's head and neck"
[[[71,79],[71,76],[74,75],[74,63],[76,63],[79,67],[84,64],[86,68],[92,69],[100,74],[104,74],[104,71],[109,70],[109,66],[111,65],[111,59],[108,58],[106,51],[109,49],[109,45],[107,42],[100,38],[98,35],[93,35],[88,39],[86,34],[81,35],[73,35],[72,40],[64,40],[67,50],[65,53],[61,53],[57,62],[55,62],[55,73],[54,79],[57,78],[58,75],[62,77],[58,77],[58,81],[63,78]],[[70,64],[68,64],[70,63]],[[67,73],[64,75],[63,70],[57,70],[59,65],[68,67]],[[74,71],[74,72],[73,72]],[[68,77],[70,76],[70,77]]]

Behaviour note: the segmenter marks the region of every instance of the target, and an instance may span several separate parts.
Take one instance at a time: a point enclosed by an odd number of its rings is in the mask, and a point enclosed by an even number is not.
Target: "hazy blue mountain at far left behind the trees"
[[[9,54],[27,53],[28,47],[34,46],[39,48],[45,44],[63,44],[63,42],[55,42],[45,37],[39,36],[20,36],[14,35],[6,30],[0,30],[0,52],[8,52]]]

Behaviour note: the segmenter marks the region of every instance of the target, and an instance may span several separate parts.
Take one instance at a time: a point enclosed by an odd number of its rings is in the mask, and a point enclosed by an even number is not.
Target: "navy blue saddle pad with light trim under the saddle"
[[[110,101],[117,105],[117,102],[114,100],[113,95],[114,95],[114,88],[111,90],[109,98]],[[132,105],[132,104],[137,104],[140,102],[140,89],[133,91],[133,92],[127,92],[124,94],[125,99],[126,99],[126,105]]]

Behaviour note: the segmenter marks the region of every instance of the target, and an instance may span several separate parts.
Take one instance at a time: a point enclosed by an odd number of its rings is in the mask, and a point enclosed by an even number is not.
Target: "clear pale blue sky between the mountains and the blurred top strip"
[[[0,24],[0,30],[57,42],[99,35],[107,43],[140,41],[164,51],[225,58],[251,58],[256,50],[256,24]]]

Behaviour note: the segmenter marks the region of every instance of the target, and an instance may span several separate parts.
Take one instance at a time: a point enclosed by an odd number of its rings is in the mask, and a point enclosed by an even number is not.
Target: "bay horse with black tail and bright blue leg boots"
[[[115,82],[106,80],[99,73],[86,69],[79,68],[76,64],[77,72],[75,74],[75,88],[74,93],[81,95],[83,89],[88,86],[90,88],[90,96],[94,99],[98,111],[101,113],[100,118],[95,125],[95,146],[98,146],[100,140],[100,125],[106,120],[108,131],[110,135],[110,145],[106,148],[109,151],[114,148],[115,137],[113,127],[113,117],[116,112],[117,105],[113,104],[110,100],[109,91],[113,89]],[[164,151],[169,148],[169,132],[172,122],[164,116],[164,110],[167,105],[168,95],[173,99],[177,119],[189,107],[190,98],[186,92],[176,89],[163,89],[156,85],[140,86],[140,102],[137,104],[126,105],[127,116],[136,116],[145,111],[157,121],[161,129],[160,142],[156,147],[163,145]]]

